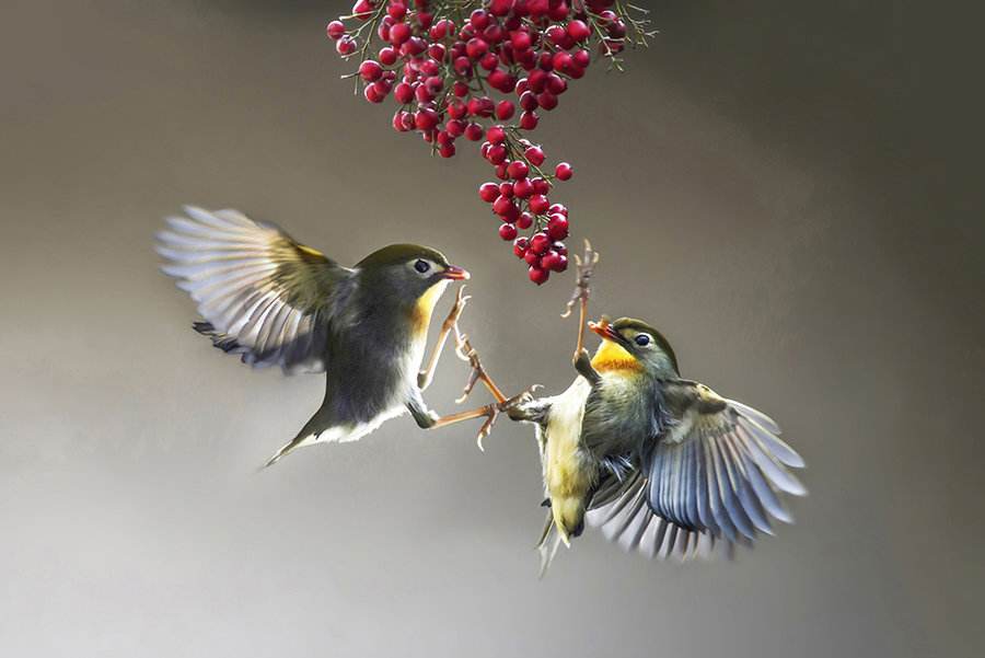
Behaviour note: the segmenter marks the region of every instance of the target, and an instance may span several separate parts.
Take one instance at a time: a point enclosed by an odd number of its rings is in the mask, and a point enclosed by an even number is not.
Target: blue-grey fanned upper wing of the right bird
[[[650,510],[729,542],[772,534],[770,517],[790,522],[779,493],[807,494],[788,470],[803,460],[776,423],[695,382],[665,382],[662,393],[669,420],[645,463]]]

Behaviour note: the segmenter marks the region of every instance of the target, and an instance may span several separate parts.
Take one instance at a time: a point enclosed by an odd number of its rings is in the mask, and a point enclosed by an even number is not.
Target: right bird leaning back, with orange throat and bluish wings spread
[[[509,411],[536,424],[549,506],[538,549],[542,573],[586,520],[626,550],[650,557],[707,554],[773,533],[792,519],[779,494],[807,492],[788,467],[803,460],[769,417],[682,379],[660,332],[639,320],[602,318],[591,359],[575,360],[567,391]]]

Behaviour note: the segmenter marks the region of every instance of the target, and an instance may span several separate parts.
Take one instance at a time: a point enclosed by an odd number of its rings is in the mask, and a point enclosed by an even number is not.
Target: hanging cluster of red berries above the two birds
[[[544,151],[522,131],[557,107],[593,53],[619,68],[627,44],[646,45],[651,33],[634,11],[644,10],[617,0],[358,0],[327,32],[339,55],[358,56],[351,77],[366,100],[399,104],[395,130],[420,134],[442,158],[460,137],[483,141],[501,182],[483,184],[479,196],[540,285],[567,268],[568,211],[547,196],[572,169],[561,162],[545,173]]]

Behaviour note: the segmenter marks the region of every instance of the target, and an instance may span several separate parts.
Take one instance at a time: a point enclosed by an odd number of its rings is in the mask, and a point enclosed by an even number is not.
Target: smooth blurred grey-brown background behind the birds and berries
[[[625,76],[591,70],[536,137],[576,165],[557,200],[603,254],[595,312],[651,320],[686,376],[780,422],[809,463],[796,526],[683,566],[589,532],[537,581],[528,428],[500,423],[480,454],[472,427],[401,418],[256,474],[322,381],[251,372],[190,331],[151,251],[181,204],[344,263],[444,250],[510,390],[572,378],[570,277],[525,281],[472,147],[429,158],[338,80],[323,30],[343,3],[13,2],[0,653],[981,655],[974,22],[916,2],[653,7],[653,46]],[[445,359],[428,399],[453,409],[465,374]]]

